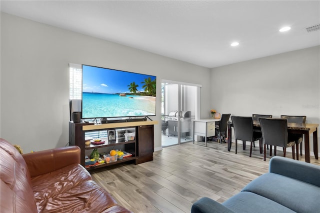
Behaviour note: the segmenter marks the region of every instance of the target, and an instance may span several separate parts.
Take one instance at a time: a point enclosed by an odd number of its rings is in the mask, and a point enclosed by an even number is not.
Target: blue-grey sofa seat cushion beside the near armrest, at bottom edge
[[[224,201],[222,205],[234,212],[294,212],[273,200],[248,191],[235,194]]]

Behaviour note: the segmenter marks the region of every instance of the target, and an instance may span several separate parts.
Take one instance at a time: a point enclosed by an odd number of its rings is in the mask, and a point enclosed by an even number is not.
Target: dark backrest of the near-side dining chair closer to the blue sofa
[[[259,118],[264,144],[286,147],[287,120],[282,118]]]

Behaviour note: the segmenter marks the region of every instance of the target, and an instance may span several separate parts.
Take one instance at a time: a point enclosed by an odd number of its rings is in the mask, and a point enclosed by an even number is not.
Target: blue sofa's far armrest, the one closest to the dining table
[[[286,157],[274,156],[269,172],[281,174],[320,187],[320,166]]]

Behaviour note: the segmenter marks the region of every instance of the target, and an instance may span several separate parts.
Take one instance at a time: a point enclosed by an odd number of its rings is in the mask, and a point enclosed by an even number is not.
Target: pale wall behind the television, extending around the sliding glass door
[[[69,62],[157,76],[155,149],[161,79],[202,84],[203,116],[209,110],[208,68],[1,12],[0,136],[24,153],[68,142]]]

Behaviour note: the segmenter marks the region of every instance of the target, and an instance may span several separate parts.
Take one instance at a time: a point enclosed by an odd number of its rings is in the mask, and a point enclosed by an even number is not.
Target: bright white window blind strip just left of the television
[[[82,98],[82,67],[80,64],[69,63],[69,99]]]

